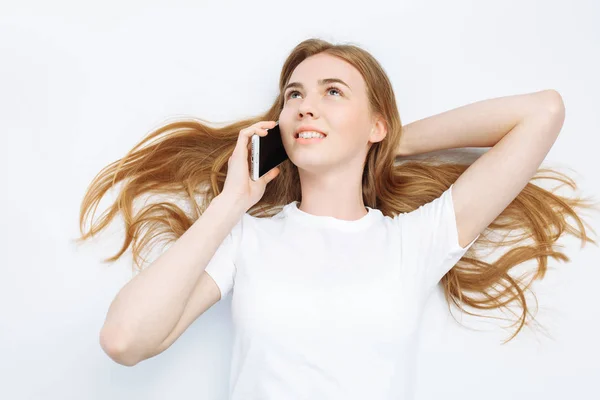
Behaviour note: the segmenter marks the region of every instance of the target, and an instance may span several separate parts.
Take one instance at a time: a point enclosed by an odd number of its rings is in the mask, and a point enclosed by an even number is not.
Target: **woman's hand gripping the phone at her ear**
[[[265,193],[267,183],[279,175],[279,167],[275,167],[257,181],[250,178],[250,137],[254,134],[266,136],[267,129],[271,129],[275,125],[277,125],[276,121],[260,121],[242,129],[233,153],[227,161],[227,177],[221,194],[236,202],[241,202],[246,210],[258,203]]]

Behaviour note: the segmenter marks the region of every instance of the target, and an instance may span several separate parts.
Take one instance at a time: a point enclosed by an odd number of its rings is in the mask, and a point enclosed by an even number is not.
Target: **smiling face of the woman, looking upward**
[[[327,79],[341,82],[319,82]],[[349,162],[362,166],[374,122],[358,70],[328,54],[311,56],[294,70],[283,98],[279,127],[285,150],[299,169],[323,173]],[[327,136],[310,142],[297,139],[297,130],[305,126]]]

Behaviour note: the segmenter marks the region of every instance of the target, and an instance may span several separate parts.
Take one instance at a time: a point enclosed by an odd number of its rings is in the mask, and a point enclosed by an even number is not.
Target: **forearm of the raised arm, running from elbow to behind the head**
[[[492,147],[528,115],[546,111],[554,90],[497,97],[467,104],[402,127],[398,156],[461,147]]]

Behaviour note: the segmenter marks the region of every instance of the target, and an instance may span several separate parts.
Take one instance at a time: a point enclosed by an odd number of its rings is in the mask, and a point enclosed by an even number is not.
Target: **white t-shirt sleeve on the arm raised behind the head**
[[[451,185],[442,195],[414,211],[395,217],[400,227],[403,268],[432,289],[479,238],[464,248],[458,243]]]

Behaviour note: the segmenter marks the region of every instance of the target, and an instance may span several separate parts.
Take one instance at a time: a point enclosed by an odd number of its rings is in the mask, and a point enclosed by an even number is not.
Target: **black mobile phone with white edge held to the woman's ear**
[[[250,176],[253,181],[288,159],[288,154],[283,147],[279,121],[271,129],[267,129],[266,136],[252,135],[252,157],[250,162]]]

